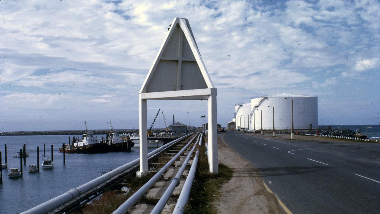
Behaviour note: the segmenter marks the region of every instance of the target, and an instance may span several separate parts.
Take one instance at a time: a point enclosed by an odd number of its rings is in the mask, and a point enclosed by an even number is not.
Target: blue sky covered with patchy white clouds
[[[252,96],[289,92],[318,96],[320,125],[378,124],[379,4],[1,0],[0,131],[84,129],[85,120],[137,128],[139,89],[175,17],[188,19],[218,90],[219,124]],[[207,101],[147,106],[148,126],[158,109],[169,124],[207,117]],[[165,128],[161,112],[154,128]]]

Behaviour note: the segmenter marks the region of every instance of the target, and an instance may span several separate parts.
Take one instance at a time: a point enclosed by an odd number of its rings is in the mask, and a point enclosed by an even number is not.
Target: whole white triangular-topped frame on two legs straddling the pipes
[[[147,100],[207,100],[210,172],[218,173],[217,89],[214,88],[187,19],[175,18],[139,93],[140,171],[148,171]]]

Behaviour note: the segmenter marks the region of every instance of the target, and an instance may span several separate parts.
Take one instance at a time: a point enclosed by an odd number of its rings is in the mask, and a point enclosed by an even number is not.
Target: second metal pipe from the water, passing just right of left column
[[[176,156],[174,156],[171,160],[168,161],[168,163],[163,166],[160,171],[158,171],[146,184],[144,184],[139,190],[135,192],[132,196],[130,196],[124,203],[122,203],[115,211],[112,212],[112,214],[125,214],[132,206],[133,204],[138,201],[144,193],[146,193],[150,187],[152,187],[155,182],[161,177],[161,175],[171,166],[171,164],[174,163],[174,161],[179,158],[180,155],[187,149],[187,147],[193,142],[196,136],[194,136],[185,146],[182,148]]]

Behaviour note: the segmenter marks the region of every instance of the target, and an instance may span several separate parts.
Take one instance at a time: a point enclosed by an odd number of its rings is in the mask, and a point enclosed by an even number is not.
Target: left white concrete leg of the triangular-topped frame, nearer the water
[[[146,102],[146,99],[141,99],[141,94],[139,94],[140,171],[137,172],[137,177],[144,176],[148,172],[148,136]]]

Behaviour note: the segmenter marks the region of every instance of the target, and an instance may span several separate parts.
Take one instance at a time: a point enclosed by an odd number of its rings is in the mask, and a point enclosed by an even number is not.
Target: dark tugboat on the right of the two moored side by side
[[[107,134],[106,142],[110,152],[130,152],[134,143],[128,137],[120,136],[119,133],[113,132],[112,121],[109,121],[111,130]]]

